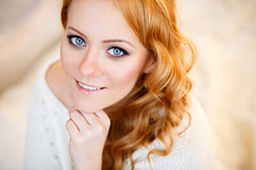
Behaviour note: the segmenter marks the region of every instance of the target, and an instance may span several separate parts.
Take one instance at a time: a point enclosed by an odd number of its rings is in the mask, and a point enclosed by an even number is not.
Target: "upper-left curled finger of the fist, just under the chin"
[[[77,110],[72,111],[69,114],[70,119],[74,121],[74,123],[77,125],[77,128],[79,129],[80,132],[85,132],[88,130],[88,122],[84,119],[83,115]]]

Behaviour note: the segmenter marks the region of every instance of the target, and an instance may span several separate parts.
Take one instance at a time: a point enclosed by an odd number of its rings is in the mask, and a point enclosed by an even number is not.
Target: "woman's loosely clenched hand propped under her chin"
[[[66,128],[74,169],[101,169],[102,152],[110,127],[108,115],[103,110],[83,113],[74,106],[68,113],[70,120]]]

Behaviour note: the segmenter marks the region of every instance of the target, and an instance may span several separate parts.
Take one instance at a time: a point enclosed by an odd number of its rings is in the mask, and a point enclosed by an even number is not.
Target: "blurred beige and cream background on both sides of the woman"
[[[60,0],[0,0],[0,169],[23,169],[38,70],[60,58]],[[217,169],[256,169],[256,1],[179,1],[191,76],[214,132]]]

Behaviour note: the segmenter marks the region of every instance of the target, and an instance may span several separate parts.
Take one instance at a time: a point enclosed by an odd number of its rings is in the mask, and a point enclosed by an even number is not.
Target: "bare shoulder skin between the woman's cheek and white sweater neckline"
[[[70,108],[72,100],[68,95],[69,89],[60,60],[49,66],[45,73],[45,81],[52,93],[58,97],[67,108]]]

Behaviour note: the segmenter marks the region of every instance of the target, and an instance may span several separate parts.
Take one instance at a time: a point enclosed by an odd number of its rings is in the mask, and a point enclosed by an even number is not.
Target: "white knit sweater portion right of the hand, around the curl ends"
[[[186,117],[182,120],[182,124],[175,128],[177,135],[173,140],[171,152],[165,157],[150,155],[150,162],[156,169],[166,169],[166,167],[168,169],[180,169],[180,167],[184,169],[212,169],[214,150],[211,127],[204,109],[195,97],[191,97],[189,114],[191,115],[189,127],[189,117]],[[188,129],[182,132],[186,127]],[[182,132],[180,136],[178,135],[179,132]],[[136,168],[150,168],[147,154],[154,149],[164,149],[164,145],[159,139],[155,139],[147,148],[139,148],[132,154],[133,159],[138,162]],[[127,166],[130,166],[131,162],[129,160],[127,162]]]

